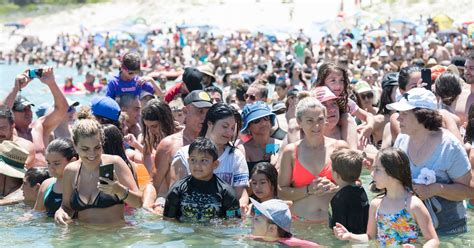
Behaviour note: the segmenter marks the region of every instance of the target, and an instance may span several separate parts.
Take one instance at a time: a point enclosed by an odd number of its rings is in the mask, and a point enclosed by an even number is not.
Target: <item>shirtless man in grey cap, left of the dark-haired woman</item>
[[[191,144],[201,131],[202,122],[207,110],[212,106],[209,94],[202,90],[195,90],[184,98],[184,129],[164,138],[156,148],[155,164],[153,168],[153,184],[158,195],[166,195],[170,187],[170,166],[176,151]]]

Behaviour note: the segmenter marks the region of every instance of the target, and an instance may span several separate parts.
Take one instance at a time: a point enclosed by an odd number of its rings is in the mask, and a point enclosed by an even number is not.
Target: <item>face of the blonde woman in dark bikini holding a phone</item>
[[[83,163],[100,163],[102,155],[102,142],[99,135],[79,138],[74,148]]]

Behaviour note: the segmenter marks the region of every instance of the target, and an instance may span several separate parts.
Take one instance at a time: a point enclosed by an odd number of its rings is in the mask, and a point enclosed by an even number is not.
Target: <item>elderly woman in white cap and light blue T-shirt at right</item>
[[[474,196],[471,165],[462,143],[441,129],[442,117],[435,95],[424,88],[414,88],[387,107],[400,112],[401,133],[394,146],[408,154],[413,178],[416,180],[420,174],[428,175],[426,178],[430,173],[436,175],[432,176],[431,184],[427,180],[425,184],[413,185],[415,193],[425,200],[436,232],[466,232],[463,200]]]

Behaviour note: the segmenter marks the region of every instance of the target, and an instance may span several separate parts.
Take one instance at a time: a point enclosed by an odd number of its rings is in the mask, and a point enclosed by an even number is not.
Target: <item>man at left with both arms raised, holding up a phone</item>
[[[31,106],[34,105],[25,97],[17,96],[18,92],[32,81],[32,78],[29,78],[28,70],[16,76],[15,85],[4,99],[3,104],[13,110],[17,135],[33,142],[36,157],[35,165],[46,165],[45,149],[49,144],[51,133],[66,115],[68,103],[54,79],[52,67],[43,68],[43,74],[39,79],[48,86],[53,95],[53,111],[32,123]]]

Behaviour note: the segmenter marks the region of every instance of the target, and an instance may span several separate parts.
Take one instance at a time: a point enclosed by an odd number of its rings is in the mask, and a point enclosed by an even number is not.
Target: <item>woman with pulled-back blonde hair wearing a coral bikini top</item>
[[[326,108],[313,97],[298,102],[296,120],[304,134],[283,150],[278,173],[279,196],[293,201],[298,220],[327,221],[329,201],[337,186],[331,182],[330,154],[345,141],[324,136]]]

